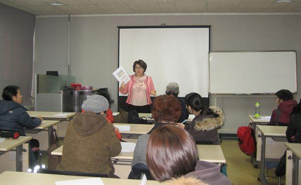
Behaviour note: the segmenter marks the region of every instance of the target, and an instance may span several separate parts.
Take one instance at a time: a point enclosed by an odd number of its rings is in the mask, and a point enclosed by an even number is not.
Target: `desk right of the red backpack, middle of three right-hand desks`
[[[286,135],[285,135],[286,128],[287,127],[284,126],[257,125],[257,129],[258,129],[257,150],[260,149],[259,154],[261,153],[260,154],[261,167],[260,167],[259,178],[262,184],[269,184],[264,174],[265,161],[266,160],[278,161],[285,151],[284,142],[286,141]],[[267,141],[269,138],[270,140]],[[277,145],[277,142],[279,142],[279,145]],[[270,147],[267,147],[266,145],[269,145]],[[268,153],[269,151],[272,152]]]

